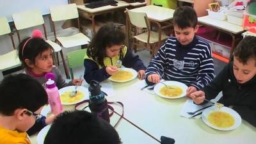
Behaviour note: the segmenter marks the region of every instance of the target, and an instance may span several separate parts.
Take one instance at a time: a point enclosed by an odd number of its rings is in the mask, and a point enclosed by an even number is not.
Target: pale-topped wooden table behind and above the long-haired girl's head
[[[86,8],[84,5],[77,5],[78,10],[88,14],[86,19],[92,20],[93,34],[95,33],[95,15],[102,15],[103,13],[114,12],[116,10],[124,10],[125,7],[129,6],[129,3],[118,1],[117,6],[101,6],[99,8]]]

